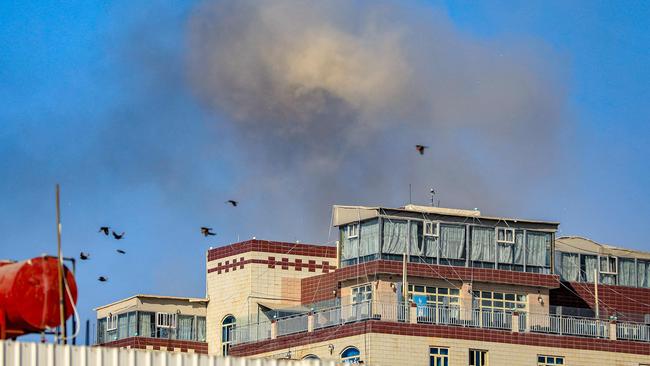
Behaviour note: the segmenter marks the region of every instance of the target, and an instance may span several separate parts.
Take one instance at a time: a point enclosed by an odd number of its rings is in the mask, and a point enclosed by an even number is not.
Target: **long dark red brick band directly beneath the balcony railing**
[[[472,341],[508,343],[527,346],[583,349],[592,351],[650,355],[648,343],[613,341],[609,339],[559,336],[538,333],[512,333],[510,331],[454,327],[432,324],[392,323],[367,320],[339,327],[320,329],[310,333],[298,333],[256,343],[233,346],[233,356],[253,356],[289,347],[350,337],[365,333],[396,334],[401,336],[436,337]]]

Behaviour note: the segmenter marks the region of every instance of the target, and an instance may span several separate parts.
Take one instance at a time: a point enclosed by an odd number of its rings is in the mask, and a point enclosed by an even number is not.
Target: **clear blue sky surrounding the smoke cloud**
[[[562,234],[650,251],[648,2],[431,5],[469,37],[530,41],[550,50],[542,63],[561,65],[575,121],[562,136],[569,169],[498,213],[553,219]],[[61,183],[65,254],[92,256],[78,266],[83,319],[92,319],[94,306],[135,293],[202,296],[208,246],[253,235],[327,241],[328,223],[313,232],[286,230],[292,224],[273,215],[260,221],[260,210],[276,209],[266,198],[277,192],[238,188],[251,169],[236,153],[241,145],[219,123],[224,116],[203,108],[186,85],[194,7],[0,3],[0,257],[55,252],[54,185]],[[231,197],[241,207],[223,203]],[[99,235],[100,225],[126,231],[126,239]],[[201,225],[219,235],[202,238]],[[118,247],[127,255],[115,254]],[[96,282],[99,275],[109,282]]]

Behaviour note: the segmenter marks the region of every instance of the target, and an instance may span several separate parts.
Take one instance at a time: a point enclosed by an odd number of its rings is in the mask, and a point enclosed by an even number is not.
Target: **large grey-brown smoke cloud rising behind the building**
[[[403,204],[409,183],[420,201],[434,186],[443,205],[510,212],[558,165],[553,54],[424,5],[207,1],[188,47],[195,93],[246,146],[241,189],[304,217],[301,234],[322,233],[333,203]]]

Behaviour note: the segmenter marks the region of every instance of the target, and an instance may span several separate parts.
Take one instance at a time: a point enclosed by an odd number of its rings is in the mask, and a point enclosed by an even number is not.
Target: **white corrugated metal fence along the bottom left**
[[[335,366],[334,361],[217,357],[123,348],[0,341],[2,366]]]

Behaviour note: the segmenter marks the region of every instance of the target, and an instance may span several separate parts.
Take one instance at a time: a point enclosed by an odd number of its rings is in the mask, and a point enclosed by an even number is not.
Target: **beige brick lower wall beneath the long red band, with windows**
[[[334,346],[332,353],[330,344]],[[378,333],[292,347],[290,351],[293,359],[314,354],[322,360],[338,361],[340,353],[348,346],[357,347],[362,360],[371,366],[429,365],[430,346],[448,347],[450,366],[467,366],[470,349],[487,350],[489,366],[536,366],[537,355],[563,356],[567,366],[639,366],[640,363],[650,363],[650,356],[627,353]],[[281,357],[288,351],[289,349],[278,350],[255,357]]]

